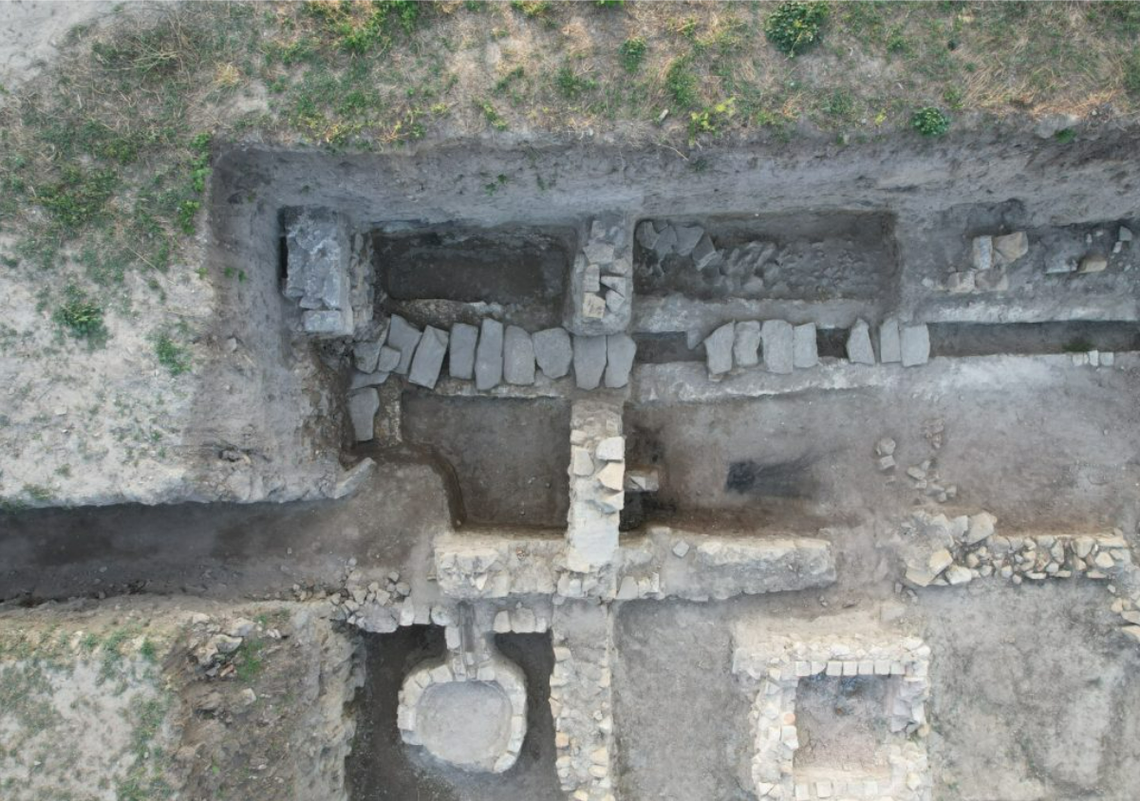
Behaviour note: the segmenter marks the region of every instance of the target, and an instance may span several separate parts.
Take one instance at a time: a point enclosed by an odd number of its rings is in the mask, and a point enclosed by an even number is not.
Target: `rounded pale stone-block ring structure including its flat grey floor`
[[[462,770],[503,773],[519,758],[527,734],[527,684],[498,653],[458,673],[462,657],[420,665],[404,680],[397,725],[409,745]]]

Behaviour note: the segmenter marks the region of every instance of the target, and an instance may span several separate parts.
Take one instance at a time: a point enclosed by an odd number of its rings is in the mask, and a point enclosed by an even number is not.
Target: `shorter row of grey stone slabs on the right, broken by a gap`
[[[930,332],[925,325],[902,325],[890,318],[879,327],[878,351],[878,361],[883,363],[925,365],[930,360]],[[793,326],[784,320],[726,322],[705,340],[705,355],[711,376],[724,375],[734,367],[756,367],[762,358],[765,369],[776,374],[820,363],[815,324]],[[876,363],[871,327],[865,320],[852,326],[847,359],[856,365]]]

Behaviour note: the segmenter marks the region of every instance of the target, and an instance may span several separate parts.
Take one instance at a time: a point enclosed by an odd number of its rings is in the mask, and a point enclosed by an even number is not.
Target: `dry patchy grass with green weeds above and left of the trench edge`
[[[44,326],[99,345],[104,308],[131,312],[129,272],[160,302],[171,271],[206,279],[180,262],[219,140],[390,149],[552,132],[685,152],[822,134],[857,146],[917,136],[920,107],[943,111],[950,136],[1011,114],[1132,121],[1140,108],[1140,3],[836,3],[796,57],[765,35],[774,8],[127,7],[73,31],[60,64],[0,96],[0,263],[35,287]],[[99,325],[68,321],[75,299]],[[147,322],[156,363],[187,371],[193,332]],[[0,328],[0,346],[14,336]]]

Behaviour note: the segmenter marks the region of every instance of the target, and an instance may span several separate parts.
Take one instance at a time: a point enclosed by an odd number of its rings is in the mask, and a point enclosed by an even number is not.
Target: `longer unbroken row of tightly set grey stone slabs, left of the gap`
[[[491,390],[502,383],[528,386],[536,371],[562,378],[573,367],[581,390],[603,383],[618,389],[629,383],[636,345],[626,334],[572,336],[564,328],[529,334],[519,326],[483,319],[479,326],[456,322],[450,332],[426,326],[422,332],[393,314],[384,338],[359,343],[355,349],[358,375],[352,389],[383,384],[390,373],[408,382],[434,389],[443,369],[451,378],[474,381],[475,389]]]

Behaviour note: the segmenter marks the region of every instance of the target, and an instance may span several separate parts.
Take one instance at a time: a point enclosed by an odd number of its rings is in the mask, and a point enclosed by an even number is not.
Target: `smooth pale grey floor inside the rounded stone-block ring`
[[[470,770],[489,770],[511,738],[511,701],[494,683],[432,685],[420,698],[416,719],[427,751]]]

